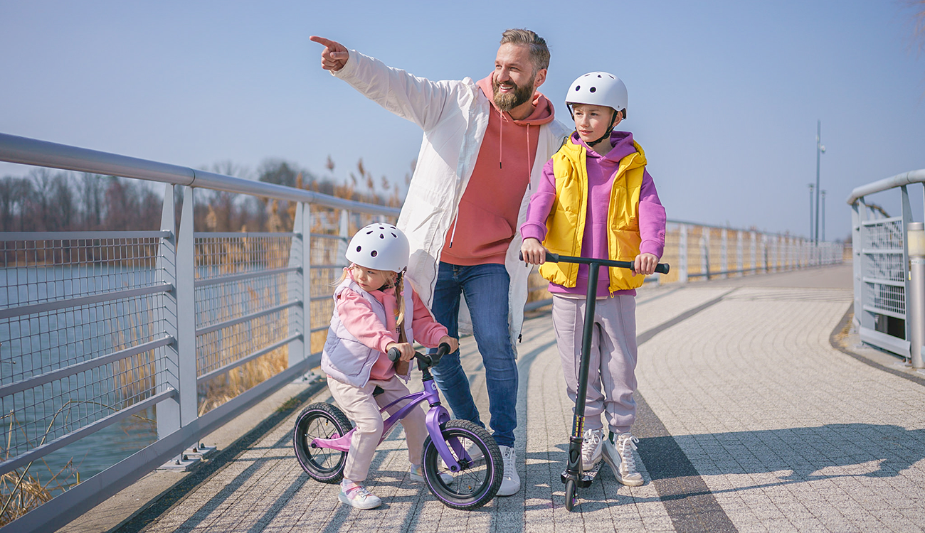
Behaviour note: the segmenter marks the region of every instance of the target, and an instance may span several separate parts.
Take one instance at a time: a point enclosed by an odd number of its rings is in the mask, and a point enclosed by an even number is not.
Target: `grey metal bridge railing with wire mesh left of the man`
[[[399,212],[5,134],[0,161],[166,184],[157,231],[0,233],[0,475],[156,412],[153,442],[4,532],[67,524],[317,366],[351,230]],[[196,231],[200,188],[295,202],[293,228]],[[203,403],[261,358],[275,361],[268,379]]]

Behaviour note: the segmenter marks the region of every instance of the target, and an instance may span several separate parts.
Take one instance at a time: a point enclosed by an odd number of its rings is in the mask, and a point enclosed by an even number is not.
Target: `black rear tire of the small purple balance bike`
[[[331,434],[324,435],[306,435],[305,432],[309,430],[312,422],[318,418],[323,418],[330,422],[339,435],[345,434],[352,428],[350,419],[336,406],[324,402],[312,404],[302,409],[302,413],[295,420],[295,428],[292,430],[292,447],[295,449],[295,456],[299,461],[299,465],[302,466],[302,470],[309,477],[322,483],[339,483],[340,479],[343,478],[347,452],[339,452],[340,456],[337,462],[330,467],[319,465],[313,459],[313,454],[317,454],[317,452],[314,452],[311,447],[312,439],[315,437],[327,438],[332,436],[334,432],[330,431]],[[336,455],[338,451],[327,450],[325,453]]]

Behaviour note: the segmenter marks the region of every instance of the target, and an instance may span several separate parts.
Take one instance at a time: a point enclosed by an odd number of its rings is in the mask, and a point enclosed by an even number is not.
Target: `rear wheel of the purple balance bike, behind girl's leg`
[[[343,478],[347,452],[317,448],[312,441],[339,437],[350,430],[350,420],[336,406],[318,403],[305,407],[292,431],[295,456],[302,469],[322,483],[338,483]]]

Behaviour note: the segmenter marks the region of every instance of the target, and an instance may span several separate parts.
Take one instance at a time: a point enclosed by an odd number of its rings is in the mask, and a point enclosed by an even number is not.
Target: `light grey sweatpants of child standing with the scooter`
[[[565,385],[573,402],[585,329],[585,307],[585,298],[552,297],[552,324]],[[635,363],[635,297],[598,298],[587,375],[586,430],[601,429],[600,415],[605,412],[611,431],[630,430],[635,421]]]

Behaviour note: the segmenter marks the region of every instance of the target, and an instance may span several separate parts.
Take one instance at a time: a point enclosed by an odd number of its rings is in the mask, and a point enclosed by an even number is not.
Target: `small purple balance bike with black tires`
[[[411,412],[418,404],[427,402],[427,438],[424,442],[421,466],[425,484],[437,499],[453,509],[475,509],[495,497],[504,478],[504,461],[495,439],[484,428],[468,420],[450,420],[447,409],[440,405],[437,385],[430,369],[450,351],[450,345],[441,344],[437,353],[415,353],[417,368],[422,371],[424,390],[402,396],[380,412],[407,401],[383,423],[382,437],[388,430]],[[388,358],[398,360],[396,348],[388,350]],[[374,395],[376,393],[373,393]],[[296,418],[292,441],[295,456],[302,469],[322,483],[338,483],[343,478],[347,453],[353,432],[351,422],[338,407],[317,403],[305,407]],[[478,450],[484,456],[473,459],[470,453]],[[475,454],[476,457],[478,454]],[[451,480],[444,478],[451,477]]]

